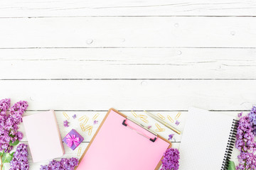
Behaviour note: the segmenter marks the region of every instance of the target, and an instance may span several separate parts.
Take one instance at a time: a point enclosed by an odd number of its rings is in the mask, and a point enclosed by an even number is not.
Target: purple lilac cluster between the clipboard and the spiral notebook
[[[160,170],[178,170],[178,149],[170,148],[164,153],[164,159],[161,160],[162,167]]]

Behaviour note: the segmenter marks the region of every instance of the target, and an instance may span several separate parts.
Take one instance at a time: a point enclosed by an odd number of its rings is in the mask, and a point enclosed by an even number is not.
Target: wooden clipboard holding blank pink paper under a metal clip
[[[110,108],[76,170],[156,170],[171,142]]]

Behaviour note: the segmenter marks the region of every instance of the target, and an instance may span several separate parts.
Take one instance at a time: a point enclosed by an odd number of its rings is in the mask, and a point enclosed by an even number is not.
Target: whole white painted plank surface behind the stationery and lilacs
[[[85,137],[82,151],[93,134],[73,114],[92,125],[111,107],[181,111],[183,130],[189,106],[246,113],[256,104],[255,16],[253,0],[0,1],[0,97],[28,101],[26,115],[54,109],[62,137],[71,128]],[[181,136],[172,142],[178,148]],[[29,159],[31,169],[48,162]]]

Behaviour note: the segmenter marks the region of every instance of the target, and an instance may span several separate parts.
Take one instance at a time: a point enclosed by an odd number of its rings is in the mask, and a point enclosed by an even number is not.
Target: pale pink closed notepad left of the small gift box
[[[23,117],[33,162],[41,162],[64,154],[54,111],[36,113]]]

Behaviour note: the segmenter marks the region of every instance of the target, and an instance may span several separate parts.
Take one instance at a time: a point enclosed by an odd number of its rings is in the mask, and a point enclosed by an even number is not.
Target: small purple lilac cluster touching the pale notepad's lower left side
[[[10,165],[11,165],[11,169],[9,170],[29,169],[28,145],[25,145],[25,144],[18,145],[16,152],[14,153],[14,158],[11,160]]]

